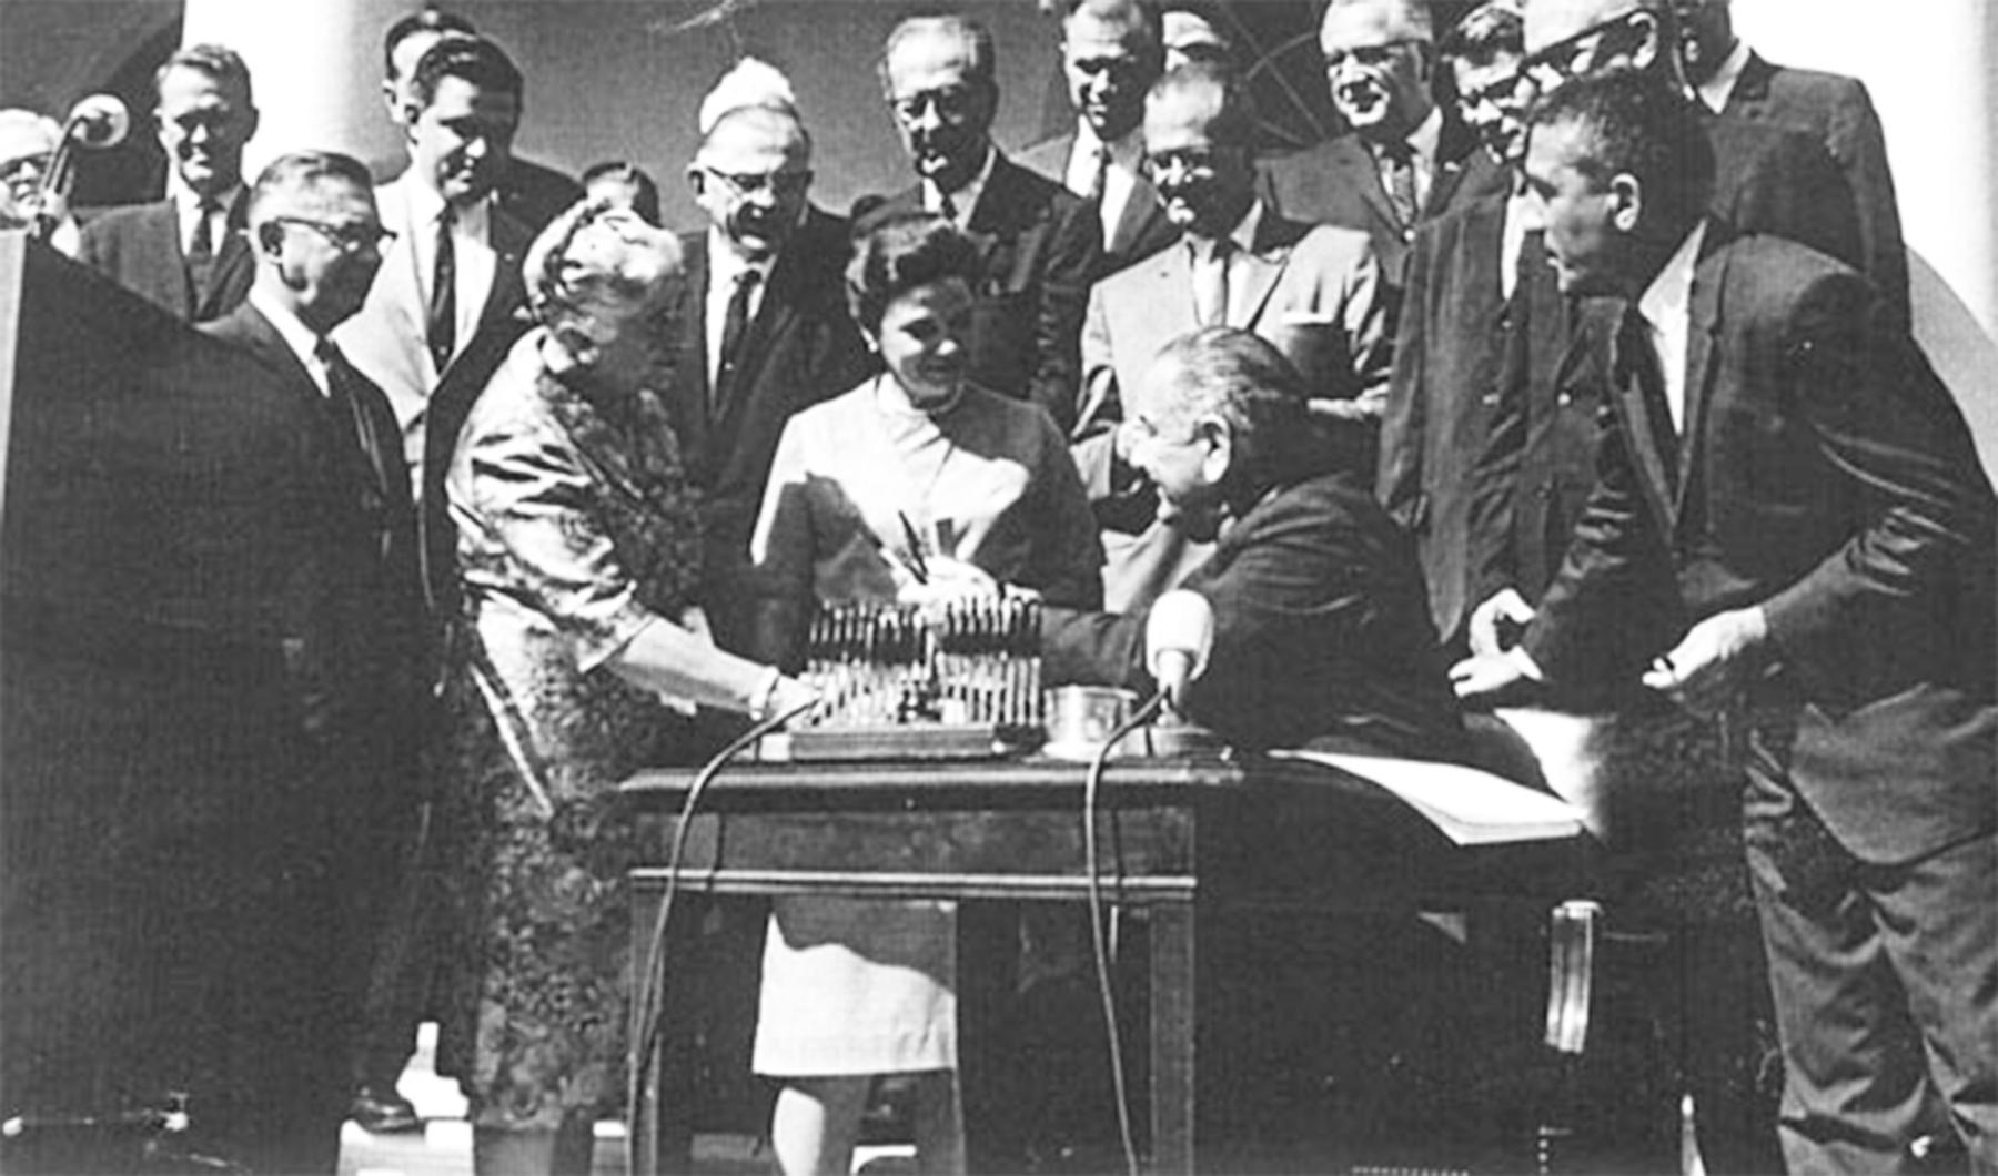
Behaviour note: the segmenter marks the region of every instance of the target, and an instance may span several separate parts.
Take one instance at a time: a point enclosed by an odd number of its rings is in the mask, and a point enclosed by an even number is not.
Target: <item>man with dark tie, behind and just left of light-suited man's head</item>
[[[1151,0],[1067,0],[1061,76],[1075,130],[1035,144],[1019,162],[1095,204],[1103,274],[1149,258],[1179,238],[1145,176],[1145,90],[1165,62]]]

